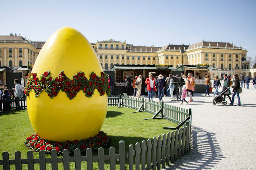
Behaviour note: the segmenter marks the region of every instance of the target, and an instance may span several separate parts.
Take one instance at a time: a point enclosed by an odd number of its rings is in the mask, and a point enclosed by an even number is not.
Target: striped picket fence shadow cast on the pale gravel
[[[212,169],[225,158],[215,133],[192,126],[192,145],[189,154],[166,167],[166,170]]]

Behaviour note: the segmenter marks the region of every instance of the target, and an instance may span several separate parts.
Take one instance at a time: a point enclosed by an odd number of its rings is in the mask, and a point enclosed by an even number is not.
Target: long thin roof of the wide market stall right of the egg
[[[155,65],[113,65],[111,69],[136,69],[136,70],[177,70],[173,66],[169,66],[169,68],[156,68]]]

